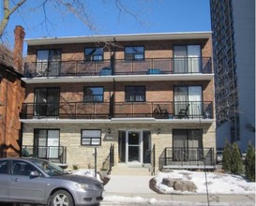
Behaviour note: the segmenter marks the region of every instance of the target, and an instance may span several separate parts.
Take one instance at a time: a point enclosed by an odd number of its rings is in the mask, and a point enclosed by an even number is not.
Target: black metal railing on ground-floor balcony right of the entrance
[[[164,167],[205,168],[215,165],[214,148],[166,147],[159,156],[159,169]]]

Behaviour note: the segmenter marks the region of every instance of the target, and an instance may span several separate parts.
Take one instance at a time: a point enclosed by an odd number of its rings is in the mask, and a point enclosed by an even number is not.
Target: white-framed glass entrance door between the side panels
[[[141,132],[128,131],[128,162],[141,162]]]

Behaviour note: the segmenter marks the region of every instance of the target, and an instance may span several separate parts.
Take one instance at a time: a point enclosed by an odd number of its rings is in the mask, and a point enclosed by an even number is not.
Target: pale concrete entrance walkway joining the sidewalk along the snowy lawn
[[[149,188],[149,181],[153,176],[128,176],[128,175],[111,175],[111,180],[105,185],[106,197],[103,201],[112,199],[129,198],[129,199],[155,199],[157,201],[178,201],[178,202],[198,202],[207,205],[209,202],[234,202],[236,205],[254,205],[255,195],[209,195],[206,194],[175,194],[165,195],[158,194]]]

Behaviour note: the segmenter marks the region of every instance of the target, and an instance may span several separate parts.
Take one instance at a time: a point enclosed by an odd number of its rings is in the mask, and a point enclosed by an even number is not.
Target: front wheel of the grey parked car
[[[51,206],[74,206],[74,201],[67,191],[58,190],[53,193]]]

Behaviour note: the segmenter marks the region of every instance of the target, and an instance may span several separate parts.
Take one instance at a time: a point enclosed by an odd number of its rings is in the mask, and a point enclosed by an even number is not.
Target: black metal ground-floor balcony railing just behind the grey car
[[[33,156],[55,163],[67,163],[67,147],[23,145],[23,156]]]

